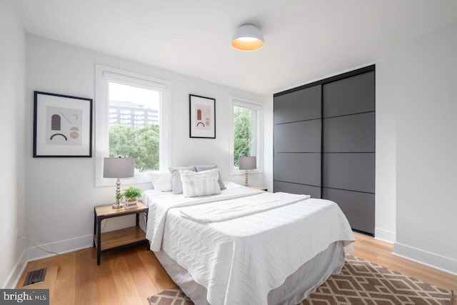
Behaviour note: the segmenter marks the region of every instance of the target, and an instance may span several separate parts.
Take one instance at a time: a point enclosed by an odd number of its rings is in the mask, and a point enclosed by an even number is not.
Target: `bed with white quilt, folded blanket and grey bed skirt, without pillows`
[[[298,304],[355,240],[337,204],[305,195],[227,182],[221,194],[150,190],[143,202],[151,250],[196,305]]]

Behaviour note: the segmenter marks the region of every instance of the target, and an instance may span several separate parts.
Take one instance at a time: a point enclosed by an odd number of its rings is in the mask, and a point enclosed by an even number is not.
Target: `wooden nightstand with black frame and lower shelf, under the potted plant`
[[[142,202],[134,209],[113,209],[112,204],[94,207],[94,247],[97,248],[97,265],[100,264],[101,251],[138,244],[146,240],[146,233],[139,226],[139,216],[141,213],[146,215],[148,220],[149,208]],[[101,221],[113,217],[136,214],[136,226],[101,233]],[[101,234],[100,234],[101,233]],[[149,243],[148,243],[149,246]]]

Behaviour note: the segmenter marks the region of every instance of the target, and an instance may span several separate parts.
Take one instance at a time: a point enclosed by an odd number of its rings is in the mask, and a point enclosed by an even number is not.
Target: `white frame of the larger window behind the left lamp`
[[[161,91],[159,109],[159,170],[168,170],[171,164],[170,128],[171,118],[169,92],[171,81],[157,79],[151,76],[111,68],[96,64],[95,66],[95,186],[113,186],[116,179],[103,177],[104,158],[109,156],[109,82],[138,86],[140,88]],[[151,176],[148,172],[135,173],[134,178],[124,179],[124,184],[149,183]]]

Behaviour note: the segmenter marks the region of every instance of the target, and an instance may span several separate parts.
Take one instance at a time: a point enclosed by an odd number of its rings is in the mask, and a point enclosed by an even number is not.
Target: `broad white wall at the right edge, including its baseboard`
[[[457,274],[457,24],[404,41],[396,64],[395,253]]]

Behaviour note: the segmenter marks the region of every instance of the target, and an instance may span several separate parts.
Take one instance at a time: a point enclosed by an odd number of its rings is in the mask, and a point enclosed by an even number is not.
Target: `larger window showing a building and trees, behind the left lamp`
[[[147,171],[169,166],[169,81],[96,65],[96,186],[112,185],[103,178],[107,156],[135,158],[135,178],[149,182]]]

